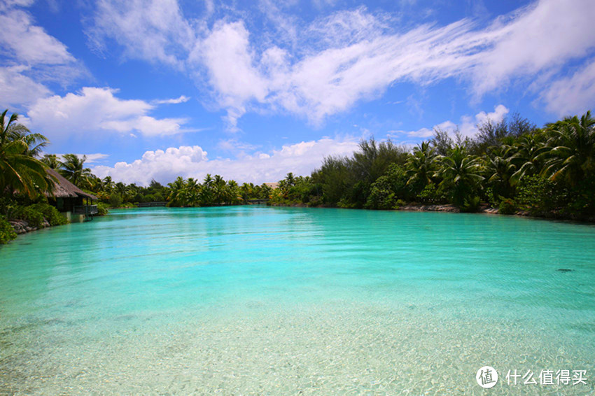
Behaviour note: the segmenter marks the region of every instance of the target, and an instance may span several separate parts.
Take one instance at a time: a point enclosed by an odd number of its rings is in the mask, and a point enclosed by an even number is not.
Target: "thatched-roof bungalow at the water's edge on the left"
[[[97,197],[80,190],[54,169],[46,171],[55,180],[54,190],[48,195],[49,203],[71,222],[92,220],[93,215],[97,214],[97,205],[92,204],[97,201]]]

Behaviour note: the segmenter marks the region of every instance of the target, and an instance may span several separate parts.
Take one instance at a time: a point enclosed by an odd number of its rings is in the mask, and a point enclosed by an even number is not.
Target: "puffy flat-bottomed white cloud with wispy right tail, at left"
[[[111,88],[84,87],[69,93],[40,99],[27,113],[31,125],[48,136],[83,132],[140,132],[147,136],[193,132],[184,129],[183,118],[153,118],[147,113],[155,106],[141,100],[118,99]]]

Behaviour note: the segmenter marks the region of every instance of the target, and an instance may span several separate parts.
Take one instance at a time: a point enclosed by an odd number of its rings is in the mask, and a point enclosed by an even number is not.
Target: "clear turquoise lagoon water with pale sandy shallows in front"
[[[0,393],[591,394],[594,320],[592,225],[113,211],[0,248]],[[508,385],[512,369],[587,385]]]

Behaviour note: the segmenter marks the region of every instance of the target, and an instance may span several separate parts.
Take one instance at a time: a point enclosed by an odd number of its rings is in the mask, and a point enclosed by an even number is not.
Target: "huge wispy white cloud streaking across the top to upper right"
[[[462,19],[408,31],[396,30],[398,15],[365,8],[304,24],[283,15],[282,6],[267,0],[260,6],[276,34],[266,27],[251,34],[246,13],[235,14],[244,20],[227,17],[209,29],[186,19],[175,0],[125,6],[101,0],[90,37],[97,43],[111,38],[127,56],[188,71],[228,112],[232,131],[247,111],[288,112],[318,125],[402,82],[425,86],[457,78],[477,99],[520,78],[538,92],[561,66],[595,48],[592,0],[540,0],[484,26]]]

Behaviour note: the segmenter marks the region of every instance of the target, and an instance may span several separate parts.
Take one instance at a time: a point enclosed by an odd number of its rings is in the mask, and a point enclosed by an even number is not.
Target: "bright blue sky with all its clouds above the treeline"
[[[309,174],[375,136],[595,104],[595,1],[4,0],[0,106],[148,184]]]

